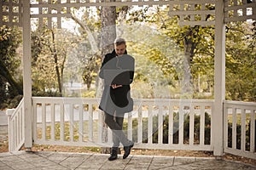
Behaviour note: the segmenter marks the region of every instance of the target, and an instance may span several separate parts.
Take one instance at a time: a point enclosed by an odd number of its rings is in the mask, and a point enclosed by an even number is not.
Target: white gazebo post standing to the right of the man
[[[214,108],[212,114],[213,155],[223,156],[224,150],[224,111],[225,99],[225,26],[224,0],[216,1],[215,6],[215,59],[214,59]]]

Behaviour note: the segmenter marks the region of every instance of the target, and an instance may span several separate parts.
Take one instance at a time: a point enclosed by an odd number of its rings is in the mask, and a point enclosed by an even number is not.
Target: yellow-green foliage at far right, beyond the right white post
[[[256,101],[255,22],[226,26],[226,98]],[[255,44],[255,43],[254,43]]]

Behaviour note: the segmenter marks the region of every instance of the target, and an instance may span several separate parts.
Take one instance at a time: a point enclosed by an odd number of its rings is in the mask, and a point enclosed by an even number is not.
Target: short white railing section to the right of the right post
[[[224,152],[256,159],[256,103],[224,101]]]

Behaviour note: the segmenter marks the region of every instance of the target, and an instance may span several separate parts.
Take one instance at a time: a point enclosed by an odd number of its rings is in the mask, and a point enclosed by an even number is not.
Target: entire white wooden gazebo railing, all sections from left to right
[[[9,151],[24,144],[24,101],[8,110]],[[34,144],[111,146],[99,99],[32,97]],[[213,150],[213,100],[135,99],[124,130],[135,148]],[[256,103],[224,101],[224,152],[255,159]],[[221,131],[221,129],[220,129]],[[107,136],[107,139],[106,139]]]

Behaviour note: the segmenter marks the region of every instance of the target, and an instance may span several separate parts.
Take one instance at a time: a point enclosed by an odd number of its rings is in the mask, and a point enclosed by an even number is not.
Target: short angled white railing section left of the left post
[[[9,124],[9,151],[20,150],[25,141],[23,103],[24,100],[22,99],[16,109],[6,111]]]

